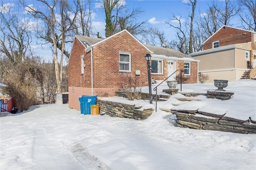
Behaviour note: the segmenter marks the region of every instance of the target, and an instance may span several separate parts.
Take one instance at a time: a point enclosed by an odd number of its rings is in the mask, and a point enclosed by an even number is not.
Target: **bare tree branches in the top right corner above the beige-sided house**
[[[242,28],[256,31],[256,1],[255,0],[240,0],[242,12],[239,13]]]

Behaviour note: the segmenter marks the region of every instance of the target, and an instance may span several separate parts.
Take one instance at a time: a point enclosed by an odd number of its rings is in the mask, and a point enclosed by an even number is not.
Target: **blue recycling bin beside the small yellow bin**
[[[81,96],[79,97],[81,114],[90,115],[91,105],[96,105],[96,99],[98,96]]]

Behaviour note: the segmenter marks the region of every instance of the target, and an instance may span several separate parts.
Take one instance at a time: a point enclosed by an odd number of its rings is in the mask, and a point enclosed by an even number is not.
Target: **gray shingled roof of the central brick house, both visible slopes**
[[[86,47],[93,45],[99,41],[101,41],[101,38],[94,38],[94,37],[86,37],[83,35],[76,35],[76,37],[79,39],[79,41],[81,41],[82,43],[84,43],[84,45]],[[151,51],[153,51],[154,55],[165,55],[167,57],[178,57],[178,58],[183,58],[183,57],[187,57],[187,58],[192,58],[189,55],[183,54],[179,51],[176,51],[174,49],[168,49],[168,48],[164,48],[164,47],[156,47],[153,45],[146,45]]]

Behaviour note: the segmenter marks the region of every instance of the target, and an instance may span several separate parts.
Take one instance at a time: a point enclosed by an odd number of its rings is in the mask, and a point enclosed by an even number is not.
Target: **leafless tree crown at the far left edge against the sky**
[[[1,4],[0,11],[0,52],[8,57],[11,63],[20,63],[25,57],[31,56],[30,44],[32,41],[29,31],[29,20],[18,15],[18,9],[14,4]],[[15,11],[15,12],[14,12]]]

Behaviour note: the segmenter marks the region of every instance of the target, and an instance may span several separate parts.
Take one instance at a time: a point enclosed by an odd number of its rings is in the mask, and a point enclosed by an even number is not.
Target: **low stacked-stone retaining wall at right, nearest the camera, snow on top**
[[[201,111],[178,110],[176,123],[178,127],[205,129],[242,134],[256,134],[256,121],[243,121],[224,115],[215,115]],[[198,116],[199,115],[199,116]]]

